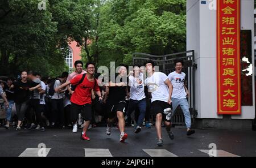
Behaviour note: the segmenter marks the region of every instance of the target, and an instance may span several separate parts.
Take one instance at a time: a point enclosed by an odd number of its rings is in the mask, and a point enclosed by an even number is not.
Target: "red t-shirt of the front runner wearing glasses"
[[[76,85],[79,83],[79,81],[82,79],[82,74],[77,75],[73,79],[71,79],[70,83],[72,85]],[[74,93],[71,96],[71,102],[73,104],[77,105],[85,105],[85,104],[92,104],[92,89],[94,87],[94,82],[89,81],[87,79],[87,76],[85,75],[84,81],[82,81],[81,84],[77,85]],[[98,87],[98,83],[96,82],[96,85],[94,87],[94,91],[100,91],[100,88]]]

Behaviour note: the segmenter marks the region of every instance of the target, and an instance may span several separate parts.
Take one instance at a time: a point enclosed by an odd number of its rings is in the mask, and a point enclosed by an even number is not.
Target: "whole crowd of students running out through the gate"
[[[191,130],[183,61],[176,60],[175,71],[168,76],[155,72],[151,61],[143,66],[134,65],[128,75],[127,67],[122,64],[114,80],[109,77],[108,82],[95,74],[94,63],[86,63],[85,70],[81,61],[76,61],[74,66],[74,72],[63,72],[56,78],[23,71],[18,80],[0,81],[0,96],[5,101],[2,107],[6,112],[4,127],[9,130],[14,126],[16,131],[70,127],[74,133],[81,127],[81,139],[90,140],[87,133],[90,127],[106,126],[106,134],[111,135],[111,128],[116,124],[119,141],[123,143],[128,137],[125,126],[133,123],[134,132],[139,133],[143,125],[150,128],[153,119],[158,137],[156,145],[162,146],[162,122],[170,139],[174,139],[171,117],[180,105],[187,135],[195,133]]]

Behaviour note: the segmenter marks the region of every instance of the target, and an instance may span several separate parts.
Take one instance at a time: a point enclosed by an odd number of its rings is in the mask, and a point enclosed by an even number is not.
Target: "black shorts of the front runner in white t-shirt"
[[[163,114],[164,121],[171,122],[171,119],[166,119],[166,114],[164,114],[164,109],[168,109],[168,108],[172,109],[172,105],[164,101],[156,100],[151,103],[151,110],[155,115],[161,113]]]

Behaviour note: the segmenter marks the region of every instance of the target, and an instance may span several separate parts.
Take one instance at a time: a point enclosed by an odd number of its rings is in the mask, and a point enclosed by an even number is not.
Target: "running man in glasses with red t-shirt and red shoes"
[[[76,89],[71,96],[71,111],[73,114],[73,123],[76,123],[77,116],[82,112],[82,115],[85,120],[85,125],[82,130],[81,138],[83,140],[90,140],[86,135],[88,130],[90,120],[92,120],[92,89],[96,91],[96,94],[99,97],[99,100],[102,100],[100,88],[98,87],[97,80],[94,78],[93,74],[95,71],[94,63],[86,63],[85,65],[87,74],[77,75],[70,81],[60,85],[55,88],[55,92],[58,92],[61,88],[67,87],[67,85],[72,84],[76,85]]]

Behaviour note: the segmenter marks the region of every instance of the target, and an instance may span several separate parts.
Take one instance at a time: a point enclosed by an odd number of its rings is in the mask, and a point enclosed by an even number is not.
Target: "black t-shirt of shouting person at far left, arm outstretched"
[[[14,101],[17,103],[22,103],[29,100],[31,97],[29,88],[35,87],[36,85],[38,84],[30,80],[27,80],[26,83],[18,80],[16,83],[14,83]]]

